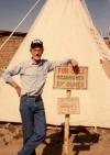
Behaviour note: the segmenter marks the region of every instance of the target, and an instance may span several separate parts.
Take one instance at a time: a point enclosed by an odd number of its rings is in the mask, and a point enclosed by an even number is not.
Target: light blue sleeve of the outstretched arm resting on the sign
[[[67,59],[63,62],[50,62],[48,60],[47,71],[52,71],[56,66],[67,65],[67,62],[68,62]]]

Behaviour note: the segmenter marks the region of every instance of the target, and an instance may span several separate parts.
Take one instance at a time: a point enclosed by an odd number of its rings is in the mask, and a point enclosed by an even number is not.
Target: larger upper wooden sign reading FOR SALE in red
[[[87,89],[88,67],[79,67],[79,74],[74,73],[73,67],[57,66],[54,71],[55,89]]]

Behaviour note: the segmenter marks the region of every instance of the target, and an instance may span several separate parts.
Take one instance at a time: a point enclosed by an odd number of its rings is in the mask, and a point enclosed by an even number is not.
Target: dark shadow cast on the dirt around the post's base
[[[99,142],[99,134],[84,126],[70,130],[69,151],[70,155],[78,155],[82,151],[90,151],[90,146]],[[42,155],[62,155],[64,145],[64,129],[46,136],[45,147]]]

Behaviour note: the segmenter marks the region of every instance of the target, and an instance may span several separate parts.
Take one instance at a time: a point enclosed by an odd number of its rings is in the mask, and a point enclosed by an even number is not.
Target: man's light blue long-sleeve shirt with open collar
[[[67,65],[65,62],[50,62],[41,59],[36,65],[31,58],[28,62],[22,62],[11,69],[6,69],[2,73],[2,78],[6,82],[13,81],[12,76],[20,74],[21,78],[21,96],[41,95],[46,81],[47,74],[57,65]]]

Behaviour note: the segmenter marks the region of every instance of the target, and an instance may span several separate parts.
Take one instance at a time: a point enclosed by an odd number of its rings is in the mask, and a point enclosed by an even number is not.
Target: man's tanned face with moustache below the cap
[[[40,60],[43,54],[43,49],[41,47],[31,48],[31,54],[34,60]]]

